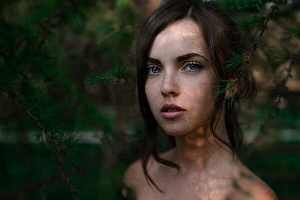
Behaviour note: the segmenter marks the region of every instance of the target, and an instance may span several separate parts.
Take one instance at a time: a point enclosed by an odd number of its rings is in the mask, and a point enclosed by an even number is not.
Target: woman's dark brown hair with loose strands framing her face
[[[140,111],[146,124],[142,166],[147,181],[150,180],[150,182],[161,192],[162,190],[159,189],[153,179],[149,176],[146,168],[150,156],[153,156],[157,162],[177,168],[178,170],[180,168],[176,163],[158,155],[158,124],[150,110],[145,94],[145,66],[148,50],[150,49],[155,36],[169,24],[183,18],[193,19],[203,29],[210,56],[213,58],[211,61],[217,79],[228,80],[237,75],[237,73],[233,73],[229,76],[228,72],[225,70],[225,62],[232,52],[240,53],[243,49],[236,24],[215,2],[211,1],[171,0],[154,10],[141,26],[140,33],[136,40],[135,65],[138,69],[137,91]],[[220,86],[219,89],[225,87],[222,82],[218,82],[218,84]],[[249,97],[251,94],[255,93],[254,79],[250,71],[244,70],[243,75],[239,79],[239,90],[240,92],[235,95],[236,100],[242,97]],[[230,143],[218,136],[214,130],[215,127],[213,127],[213,124],[216,124],[220,118],[222,107],[227,105],[227,103],[224,104],[225,101],[225,94],[221,94],[215,99],[210,119],[210,130],[214,138],[228,146],[233,153],[234,150],[239,148],[242,141],[241,129],[237,122],[236,108],[234,106],[227,107],[225,112],[225,124]],[[173,137],[172,141],[174,142],[174,145],[176,145],[174,136],[170,137]]]

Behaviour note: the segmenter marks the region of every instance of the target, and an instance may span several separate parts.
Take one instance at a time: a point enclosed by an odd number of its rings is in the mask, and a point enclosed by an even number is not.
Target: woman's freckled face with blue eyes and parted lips
[[[210,60],[202,29],[192,19],[175,21],[155,37],[145,92],[156,121],[167,134],[209,127],[216,85]]]

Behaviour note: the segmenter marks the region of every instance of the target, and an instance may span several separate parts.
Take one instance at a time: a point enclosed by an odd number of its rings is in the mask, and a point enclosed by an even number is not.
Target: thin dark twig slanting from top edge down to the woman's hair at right
[[[257,44],[258,44],[259,40],[261,39],[264,31],[267,30],[267,23],[272,18],[272,15],[273,15],[273,12],[275,11],[275,9],[278,9],[278,5],[279,4],[280,4],[280,0],[277,0],[276,4],[272,5],[270,12],[266,15],[264,23],[259,28],[260,29],[259,36],[257,37],[257,39],[255,40],[255,42],[253,43],[253,47],[251,48],[249,54],[246,56],[246,58],[244,60],[244,63],[243,63],[243,66],[241,67],[241,70],[240,70],[239,74],[237,75],[237,77],[235,78],[234,81],[237,81],[240,78],[240,76],[242,76],[244,68],[246,67],[247,64],[250,63],[249,62],[250,57],[251,57],[253,51],[256,50]]]

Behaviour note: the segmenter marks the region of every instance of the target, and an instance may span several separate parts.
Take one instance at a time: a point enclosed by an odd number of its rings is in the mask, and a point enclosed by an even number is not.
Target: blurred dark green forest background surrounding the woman
[[[0,2],[0,199],[122,199],[145,128],[132,46],[160,3]],[[240,103],[239,156],[279,199],[300,199],[300,3],[217,3],[249,50],[272,16],[247,65],[258,93]]]

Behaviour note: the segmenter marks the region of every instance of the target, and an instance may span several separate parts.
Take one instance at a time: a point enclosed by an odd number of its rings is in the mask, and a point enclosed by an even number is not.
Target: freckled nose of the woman
[[[162,93],[165,96],[168,95],[175,96],[180,93],[176,76],[171,74],[164,76],[160,87],[160,93]]]

